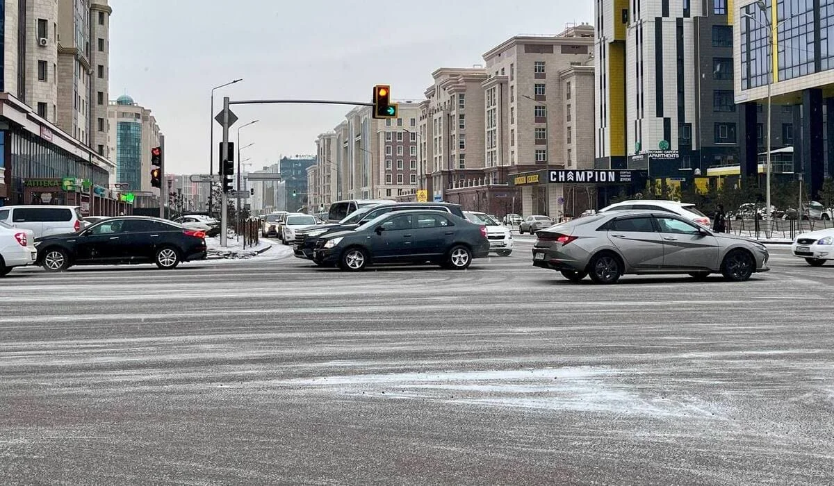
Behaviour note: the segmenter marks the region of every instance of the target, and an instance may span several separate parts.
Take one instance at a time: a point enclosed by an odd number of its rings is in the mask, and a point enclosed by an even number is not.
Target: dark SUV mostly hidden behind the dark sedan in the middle
[[[446,213],[454,214],[458,218],[464,218],[463,207],[460,204],[453,203],[397,203],[394,201],[386,201],[384,203],[377,203],[372,206],[360,208],[345,218],[339,224],[327,224],[319,228],[311,228],[309,230],[301,229],[295,234],[295,256],[299,258],[313,259],[313,250],[319,238],[328,233],[334,233],[343,229],[354,229],[359,225],[378,217],[380,214],[390,213],[391,211],[406,211],[409,209],[430,209],[436,211],[444,211]]]

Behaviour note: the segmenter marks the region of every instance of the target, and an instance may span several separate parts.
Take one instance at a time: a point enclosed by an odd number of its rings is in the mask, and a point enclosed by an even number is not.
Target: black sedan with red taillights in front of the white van
[[[167,269],[206,258],[202,231],[140,216],[108,218],[76,233],[37,238],[35,247],[38,263],[48,272],[118,263],[156,263]]]

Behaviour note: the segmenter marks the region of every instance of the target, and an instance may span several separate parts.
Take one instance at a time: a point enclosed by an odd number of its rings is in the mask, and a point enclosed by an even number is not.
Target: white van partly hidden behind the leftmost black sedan
[[[31,229],[35,238],[75,233],[82,228],[79,206],[6,206],[0,208],[0,222],[13,228]]]

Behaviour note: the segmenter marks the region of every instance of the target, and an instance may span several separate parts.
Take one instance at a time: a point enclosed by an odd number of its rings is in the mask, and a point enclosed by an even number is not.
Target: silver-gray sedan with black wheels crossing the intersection
[[[533,265],[558,270],[571,282],[590,275],[615,283],[626,273],[721,273],[744,281],[766,272],[767,249],[751,239],[712,233],[689,218],[659,211],[606,211],[538,233]]]

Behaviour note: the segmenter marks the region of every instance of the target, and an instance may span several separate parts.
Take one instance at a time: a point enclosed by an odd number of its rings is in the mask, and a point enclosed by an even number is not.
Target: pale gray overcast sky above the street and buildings
[[[593,22],[590,0],[110,0],[110,98],[128,93],[165,133],[168,173],[208,172],[211,88],[223,96],[370,101],[376,83],[421,99],[431,73],[471,67],[519,33]],[[376,6],[384,12],[376,13]],[[253,169],[315,153],[346,106],[252,105],[234,112]],[[214,142],[220,138],[215,123]],[[217,153],[215,148],[214,153]],[[215,161],[215,168],[217,163]]]

